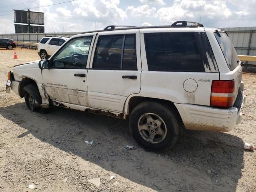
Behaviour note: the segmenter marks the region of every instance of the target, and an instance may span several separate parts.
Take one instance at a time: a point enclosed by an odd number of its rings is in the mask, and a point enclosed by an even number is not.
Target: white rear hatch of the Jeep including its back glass
[[[239,92],[240,83],[242,81],[242,66],[240,65],[240,60],[237,56],[236,50],[230,41],[228,34],[224,31],[218,31],[214,33],[218,44],[222,50],[224,58],[226,60],[226,65],[228,66],[230,72],[220,75],[220,80],[234,79],[234,102]],[[233,102],[233,104],[234,104]]]

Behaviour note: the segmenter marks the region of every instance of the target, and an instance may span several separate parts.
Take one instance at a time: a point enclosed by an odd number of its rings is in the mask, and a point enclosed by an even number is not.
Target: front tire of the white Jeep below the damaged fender
[[[50,108],[42,108],[40,104],[42,104],[42,98],[40,96],[39,90],[34,84],[29,84],[24,87],[26,90],[34,90],[31,92],[31,94],[27,91],[24,91],[24,98],[25,98],[25,103],[28,109],[36,112],[40,112],[42,114],[46,114],[50,112]],[[41,101],[41,102],[40,102]]]

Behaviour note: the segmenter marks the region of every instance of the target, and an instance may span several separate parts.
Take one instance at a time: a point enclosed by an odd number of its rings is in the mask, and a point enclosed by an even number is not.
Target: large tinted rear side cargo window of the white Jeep
[[[205,72],[194,32],[144,34],[149,71]]]

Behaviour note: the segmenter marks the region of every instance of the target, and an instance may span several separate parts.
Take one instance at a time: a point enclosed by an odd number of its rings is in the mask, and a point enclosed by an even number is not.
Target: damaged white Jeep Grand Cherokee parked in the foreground
[[[6,88],[33,111],[60,106],[128,119],[138,143],[163,152],[184,128],[240,123],[241,65],[228,34],[202,24],[108,26],[73,36],[50,59],[14,66]]]

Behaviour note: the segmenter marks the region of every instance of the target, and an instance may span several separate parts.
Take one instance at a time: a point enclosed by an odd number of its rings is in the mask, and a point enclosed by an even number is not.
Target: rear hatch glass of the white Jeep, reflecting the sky
[[[227,34],[225,32],[219,32],[214,33],[214,36],[216,37],[220,48],[222,50],[222,53],[226,59],[226,62],[228,64],[228,68],[232,71],[238,66],[239,58],[237,56],[236,50],[228,38]]]

